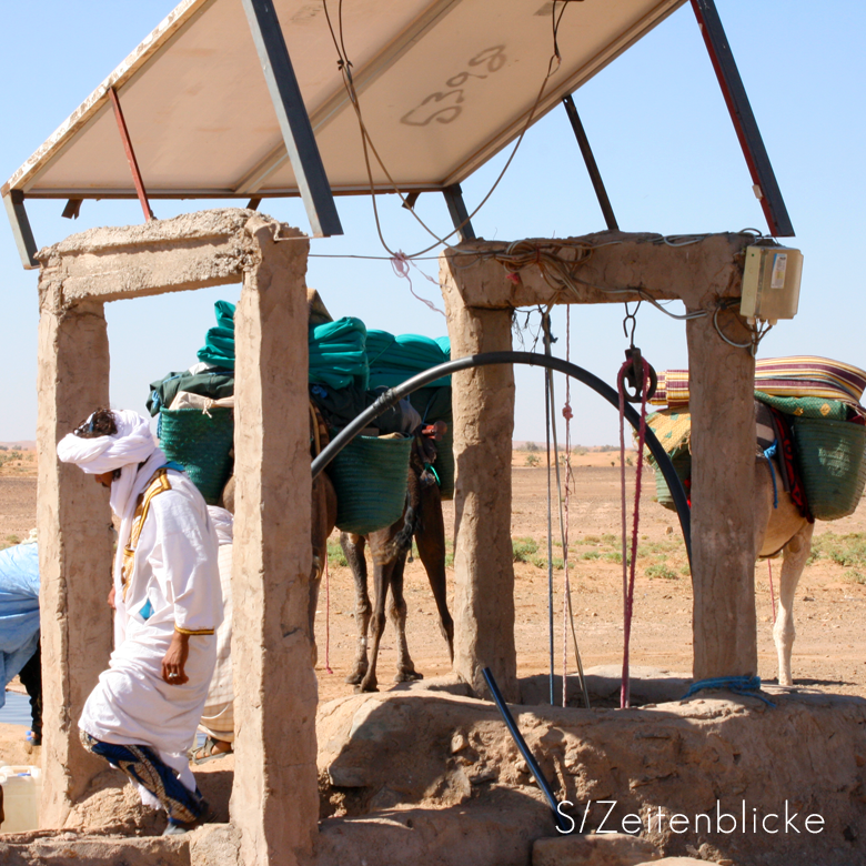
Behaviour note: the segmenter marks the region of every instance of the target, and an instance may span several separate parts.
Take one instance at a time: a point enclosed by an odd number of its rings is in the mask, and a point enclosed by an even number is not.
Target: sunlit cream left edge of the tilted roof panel
[[[71,141],[72,133],[93,121],[108,105],[109,90],[123,87],[132,75],[145,67],[188,24],[192,23],[214,0],[180,0],[178,6],[151,31],[120,66],[54,130],[41,147],[30,155],[18,171],[3,184],[9,190],[27,191],[28,181],[48,168]]]

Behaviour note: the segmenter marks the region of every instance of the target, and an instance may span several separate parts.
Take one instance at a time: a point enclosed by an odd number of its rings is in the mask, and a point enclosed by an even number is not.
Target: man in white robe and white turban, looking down
[[[147,419],[97,410],[58,444],[111,489],[120,517],[114,652],[79,719],[85,748],[169,815],[167,834],[207,820],[187,749],[208,696],[222,621],[216,533],[195,485],[157,447]]]

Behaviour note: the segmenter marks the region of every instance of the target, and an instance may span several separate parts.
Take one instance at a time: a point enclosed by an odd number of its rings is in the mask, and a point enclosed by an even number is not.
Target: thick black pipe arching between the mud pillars
[[[583,382],[584,385],[587,385],[603,396],[616,410],[620,409],[620,395],[615,389],[611,387],[606,382],[602,382],[598,376],[593,375],[582,366],[572,364],[568,361],[563,361],[560,358],[540,355],[535,352],[484,352],[480,355],[467,355],[466,358],[459,358],[456,361],[446,361],[444,364],[432,366],[430,370],[425,370],[423,373],[419,373],[416,376],[407,379],[396,387],[390,387],[385,391],[354,421],[343,427],[343,430],[331,440],[326,447],[322,449],[322,453],[319,454],[312,463],[313,479],[315,479],[364,427],[369,426],[372,421],[386,410],[396,405],[403,397],[409,396],[413,391],[417,391],[417,389],[429,385],[431,382],[442,379],[442,376],[451,375],[461,370],[472,370],[476,366],[490,366],[491,364],[527,364],[528,366],[543,366],[548,370],[555,370],[558,373],[564,373],[572,379],[576,379],[578,382]],[[635,430],[641,426],[641,416],[628,403],[625,404],[625,417]],[[653,433],[650,427],[646,429],[646,445],[658,465],[658,469],[662,470],[667,486],[671,489],[671,495],[674,500],[674,505],[676,506],[677,516],[679,517],[679,526],[683,531],[683,540],[685,541],[688,564],[691,566],[692,522],[688,510],[688,500],[685,490],[683,489],[683,483],[676,474],[671,457],[667,456],[667,452],[658,443],[655,433]]]

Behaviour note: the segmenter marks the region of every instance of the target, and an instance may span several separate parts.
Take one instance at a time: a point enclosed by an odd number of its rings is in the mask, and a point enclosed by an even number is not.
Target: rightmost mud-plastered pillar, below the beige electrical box
[[[719,320],[734,342],[748,333]],[[755,359],[722,340],[712,315],[686,325],[692,412],[692,560],[696,679],[757,673]]]

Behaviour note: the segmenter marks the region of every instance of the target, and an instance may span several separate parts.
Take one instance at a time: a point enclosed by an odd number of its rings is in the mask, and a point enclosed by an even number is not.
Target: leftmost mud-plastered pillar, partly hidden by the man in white
[[[42,286],[40,285],[40,289]],[[105,768],[79,743],[84,701],[111,654],[109,493],[57,459],[57,443],[109,404],[103,305],[60,309],[42,293],[39,321],[39,570],[42,627],[43,827],[62,827],[72,804]]]

